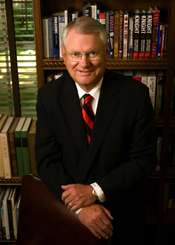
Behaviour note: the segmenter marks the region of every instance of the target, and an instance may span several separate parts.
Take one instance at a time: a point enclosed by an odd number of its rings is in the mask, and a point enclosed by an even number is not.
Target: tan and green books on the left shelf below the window
[[[0,115],[0,178],[36,175],[35,128],[31,117]]]

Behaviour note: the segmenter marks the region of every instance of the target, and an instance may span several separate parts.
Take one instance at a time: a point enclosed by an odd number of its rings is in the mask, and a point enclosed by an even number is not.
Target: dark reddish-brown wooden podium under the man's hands
[[[38,178],[24,176],[17,245],[105,245]]]

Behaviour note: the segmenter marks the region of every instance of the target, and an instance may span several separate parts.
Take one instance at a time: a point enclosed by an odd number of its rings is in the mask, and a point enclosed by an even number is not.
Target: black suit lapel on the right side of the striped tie
[[[105,74],[95,119],[94,140],[89,147],[88,156],[82,156],[80,162],[81,175],[79,176],[81,176],[80,181],[82,182],[86,179],[86,175],[93,164],[96,152],[103,143],[105,135],[108,133],[111,121],[115,116],[114,111],[117,112],[117,107],[120,102],[118,96],[120,86],[118,86],[117,83],[118,81],[116,81],[116,79],[114,80],[109,72],[108,75]]]

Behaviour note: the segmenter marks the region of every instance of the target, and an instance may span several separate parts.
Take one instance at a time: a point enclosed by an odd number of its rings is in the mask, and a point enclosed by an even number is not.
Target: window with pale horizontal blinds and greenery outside
[[[0,112],[14,114],[5,10],[7,2],[0,0]],[[37,71],[32,2],[32,0],[12,0],[20,105],[23,116],[36,115]]]

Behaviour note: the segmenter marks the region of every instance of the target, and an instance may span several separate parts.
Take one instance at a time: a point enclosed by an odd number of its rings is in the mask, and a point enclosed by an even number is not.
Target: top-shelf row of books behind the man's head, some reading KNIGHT
[[[104,25],[110,58],[144,59],[166,55],[168,25],[162,22],[159,8],[102,11],[97,5],[86,5],[81,13],[66,9],[42,19],[44,58],[62,57],[62,31],[79,15],[91,16]]]

